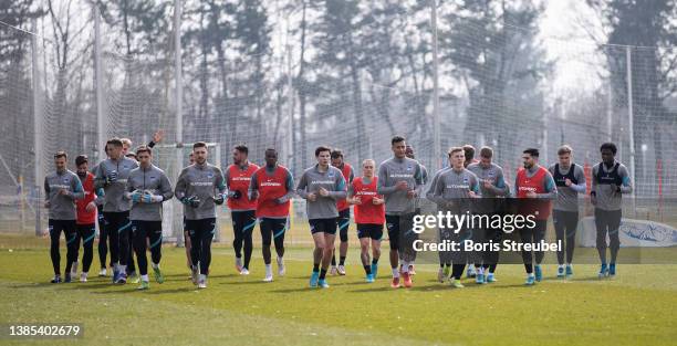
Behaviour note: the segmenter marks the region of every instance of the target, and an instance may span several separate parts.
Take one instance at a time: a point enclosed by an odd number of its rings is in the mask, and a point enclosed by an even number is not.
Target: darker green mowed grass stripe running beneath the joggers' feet
[[[288,275],[275,276],[275,282],[265,284],[261,282],[260,258],[252,262],[252,275],[240,276],[232,269],[232,253],[218,250],[212,260],[209,289],[196,292],[187,280],[183,249],[168,248],[163,259],[167,282],[152,283],[148,292],[135,292],[132,284],[113,286],[108,280],[95,277],[87,284],[27,285],[30,289],[24,294],[30,300],[30,290],[51,290],[50,298],[38,301],[41,303],[35,308],[42,311],[60,298],[129,297],[135,300],[132,302],[162,303],[150,304],[156,310],[164,310],[164,304],[176,304],[187,310],[181,314],[195,316],[216,310],[310,324],[321,329],[336,328],[344,331],[346,337],[352,337],[351,333],[392,334],[397,338],[464,345],[667,345],[677,337],[673,316],[677,306],[675,265],[623,265],[621,276],[613,281],[596,280],[594,265],[577,265],[572,282],[552,279],[554,266],[549,266],[548,280],[535,287],[522,285],[520,265],[502,265],[499,283],[478,287],[468,282],[467,289],[460,291],[437,283],[434,266],[420,265],[416,286],[394,292],[388,287],[387,263],[382,263],[381,279],[375,284],[364,283],[361,266],[352,264],[347,276],[329,279],[330,290],[311,291],[306,287],[311,263],[302,260],[310,259],[310,251],[290,249],[288,256]],[[348,262],[357,261],[353,249]],[[32,283],[46,282],[51,276],[46,249],[0,252],[0,272],[7,280]],[[97,259],[94,263],[97,266]],[[139,306],[125,305],[119,310],[126,315],[119,317],[137,318],[140,316],[137,311],[144,308]],[[80,308],[63,310],[65,317],[79,316],[80,312]],[[108,312],[104,310],[100,314],[105,316]],[[183,316],[175,318],[171,310],[158,314],[164,316],[165,326],[181,328]],[[204,325],[207,331],[218,327],[210,323]],[[139,336],[144,335],[142,331]],[[292,335],[296,334],[292,331]],[[301,332],[298,335],[303,337]],[[292,343],[293,338],[288,342]]]

